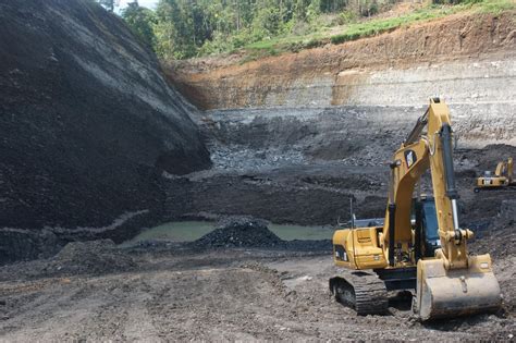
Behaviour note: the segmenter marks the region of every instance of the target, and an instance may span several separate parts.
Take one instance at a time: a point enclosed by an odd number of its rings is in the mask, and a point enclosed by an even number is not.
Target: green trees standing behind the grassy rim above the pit
[[[231,51],[265,38],[315,32],[323,25],[320,20],[322,13],[345,10],[348,13],[372,15],[378,11],[378,1],[160,0],[151,25],[153,47],[163,59]],[[136,33],[148,39],[144,23],[132,25]]]

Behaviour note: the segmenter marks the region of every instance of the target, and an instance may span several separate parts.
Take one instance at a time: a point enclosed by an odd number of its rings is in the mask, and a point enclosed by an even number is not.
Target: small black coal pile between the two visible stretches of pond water
[[[192,246],[209,247],[280,247],[286,242],[272,233],[267,222],[248,217],[231,217],[218,223],[218,229],[192,242]]]

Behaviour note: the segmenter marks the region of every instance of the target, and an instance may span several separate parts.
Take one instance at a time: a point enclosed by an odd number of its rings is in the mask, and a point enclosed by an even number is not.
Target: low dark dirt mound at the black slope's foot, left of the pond
[[[49,274],[103,274],[131,270],[133,258],[120,252],[111,240],[73,242],[44,268]]]

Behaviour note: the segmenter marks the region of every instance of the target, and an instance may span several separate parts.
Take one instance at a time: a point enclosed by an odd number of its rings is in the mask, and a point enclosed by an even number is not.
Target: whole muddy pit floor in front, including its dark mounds
[[[410,301],[393,292],[388,315],[358,317],[329,292],[328,279],[339,273],[329,241],[285,245],[263,222],[238,218],[193,243],[121,248],[112,241],[77,242],[49,259],[4,266],[0,336],[22,342],[512,340],[515,201],[502,204],[490,230],[471,244],[472,252],[494,259],[503,295],[495,314],[422,323]],[[237,248],[238,242],[251,247]]]

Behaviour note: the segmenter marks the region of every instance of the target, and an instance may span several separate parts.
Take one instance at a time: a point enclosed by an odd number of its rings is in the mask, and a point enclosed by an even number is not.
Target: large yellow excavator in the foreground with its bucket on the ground
[[[469,255],[474,233],[458,220],[452,127],[447,106],[430,100],[390,163],[391,183],[383,223],[336,230],[330,291],[358,315],[388,310],[390,291],[413,293],[421,319],[496,310],[502,298],[489,254]],[[430,169],[433,196],[413,197]]]

